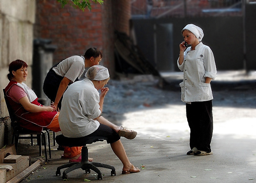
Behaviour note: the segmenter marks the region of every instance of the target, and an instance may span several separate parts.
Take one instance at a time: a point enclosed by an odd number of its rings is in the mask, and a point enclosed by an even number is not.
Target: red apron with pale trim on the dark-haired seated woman
[[[27,110],[24,109],[24,107],[20,103],[13,101],[12,98],[7,95],[7,91],[11,88],[13,84],[17,84],[17,82],[11,80],[4,90],[6,92],[6,96],[8,97],[8,101],[12,106],[12,110],[17,116],[17,122],[19,123],[20,127],[33,130],[33,131],[38,131],[38,132],[42,131],[43,127],[47,127],[48,125],[51,124],[52,119],[57,114],[57,111],[54,111],[54,112],[44,111],[44,112],[37,112],[37,113],[28,112]],[[43,106],[37,101],[37,99],[38,98],[36,98],[31,103],[37,106]]]

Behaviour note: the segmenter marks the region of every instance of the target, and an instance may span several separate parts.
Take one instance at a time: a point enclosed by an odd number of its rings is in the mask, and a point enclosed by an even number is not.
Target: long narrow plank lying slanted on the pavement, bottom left
[[[21,172],[20,174],[13,177],[11,180],[9,180],[6,183],[18,183],[25,177],[27,177],[31,172],[36,170],[39,166],[41,166],[44,163],[44,160],[42,158],[38,159],[33,165],[29,166],[26,170]]]

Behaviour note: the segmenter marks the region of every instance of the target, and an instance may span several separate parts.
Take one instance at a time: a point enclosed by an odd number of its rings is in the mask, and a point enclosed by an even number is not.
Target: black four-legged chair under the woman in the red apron
[[[35,132],[32,130],[28,130],[26,128],[22,128],[18,125],[17,123],[17,119],[16,116],[14,114],[14,111],[12,110],[11,105],[9,104],[9,101],[7,99],[5,90],[3,89],[4,92],[4,100],[8,109],[8,113],[11,119],[11,126],[13,128],[13,134],[12,134],[12,144],[15,140],[15,149],[16,149],[16,153],[18,154],[18,141],[19,139],[31,139],[31,145],[33,146],[33,139],[37,139],[37,145],[39,146],[39,156],[42,156],[42,139],[41,139],[41,134],[43,136],[43,142],[44,142],[44,154],[45,154],[45,161],[48,161],[47,158],[47,149],[46,149],[46,140],[45,140],[45,135],[44,132]],[[46,128],[43,128],[44,131],[46,131],[47,133],[47,137],[48,137],[48,148],[49,148],[49,158],[52,158],[52,154],[51,154],[51,144],[50,144],[50,133],[49,130]],[[30,136],[20,136],[20,135],[30,135]],[[36,136],[33,136],[36,135]],[[53,139],[55,141],[55,133],[53,134]]]

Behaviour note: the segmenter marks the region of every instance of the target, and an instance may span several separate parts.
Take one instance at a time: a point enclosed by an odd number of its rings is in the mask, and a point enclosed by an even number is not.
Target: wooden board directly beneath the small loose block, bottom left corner
[[[17,163],[5,163],[0,165],[11,165],[13,167],[13,170],[6,172],[6,181],[12,179],[16,175],[18,175],[20,172],[28,168],[29,166],[29,156],[22,156],[21,160]]]

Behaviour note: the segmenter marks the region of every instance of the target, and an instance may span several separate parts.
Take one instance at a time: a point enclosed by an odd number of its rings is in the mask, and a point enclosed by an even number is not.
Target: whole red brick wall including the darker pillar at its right
[[[100,49],[102,65],[114,75],[114,30],[129,33],[130,0],[108,0],[92,3],[92,11],[81,11],[70,5],[61,8],[56,0],[37,2],[35,38],[51,39],[58,48],[53,62],[72,55],[84,55],[91,47]]]

